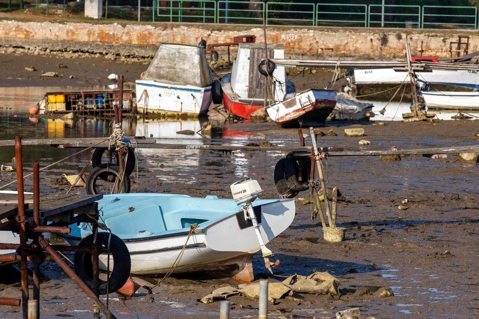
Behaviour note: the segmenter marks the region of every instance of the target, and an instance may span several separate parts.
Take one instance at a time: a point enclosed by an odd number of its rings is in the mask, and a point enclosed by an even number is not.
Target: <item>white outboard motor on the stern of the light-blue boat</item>
[[[273,270],[271,267],[276,267],[279,265],[279,260],[276,260],[274,264],[272,264],[268,257],[273,257],[273,253],[271,250],[266,248],[266,245],[263,242],[263,238],[261,237],[260,226],[258,225],[258,220],[256,220],[256,216],[254,215],[253,205],[252,202],[257,199],[263,190],[258,183],[258,181],[246,178],[242,179],[234,184],[231,184],[231,193],[233,194],[233,199],[238,205],[242,205],[241,209],[244,212],[244,219],[251,220],[254,227],[254,232],[258,237],[258,242],[260,242],[261,252],[264,259],[264,265],[268,270],[273,274]]]

